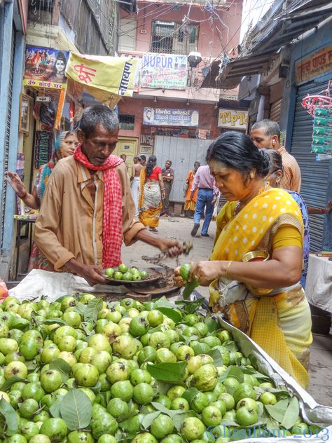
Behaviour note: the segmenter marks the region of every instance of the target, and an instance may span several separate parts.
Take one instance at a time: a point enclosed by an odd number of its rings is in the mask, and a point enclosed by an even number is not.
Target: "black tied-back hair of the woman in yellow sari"
[[[263,149],[258,149],[251,139],[237,131],[224,132],[207,150],[206,161],[216,160],[233,168],[249,179],[255,169],[258,177],[265,177],[270,168],[270,158]]]

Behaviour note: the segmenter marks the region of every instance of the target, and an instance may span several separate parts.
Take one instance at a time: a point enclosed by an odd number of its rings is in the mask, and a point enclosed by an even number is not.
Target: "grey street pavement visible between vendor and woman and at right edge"
[[[202,225],[202,224],[201,224]],[[191,261],[207,260],[212,251],[214,243],[214,233],[216,224],[214,221],[209,226],[209,237],[201,237],[200,229],[195,238],[191,237],[193,220],[181,217],[161,218],[158,226],[158,235],[167,238],[177,238],[181,241],[193,241],[193,250],[188,257],[179,257],[179,263],[190,263]],[[141,242],[137,242],[130,247],[123,246],[122,257],[125,264],[132,266],[146,266],[146,261],[141,259],[142,255],[153,256],[158,254],[158,249]],[[177,260],[163,259],[167,266],[176,267]],[[199,287],[198,291],[205,298],[208,298],[208,291],[205,287]],[[320,404],[332,407],[332,339],[331,336],[314,334],[314,342],[310,355],[310,387],[308,392],[314,400]]]

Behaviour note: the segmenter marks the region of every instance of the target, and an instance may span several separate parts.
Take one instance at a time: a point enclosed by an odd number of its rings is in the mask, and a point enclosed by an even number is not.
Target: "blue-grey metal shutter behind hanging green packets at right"
[[[305,203],[315,207],[326,205],[326,184],[328,183],[328,161],[316,161],[311,153],[312,117],[303,109],[301,101],[307,94],[317,94],[326,89],[326,81],[311,81],[299,86],[296,95],[296,110],[291,139],[291,155],[300,165],[302,184],[301,195]],[[324,233],[324,216],[310,215],[310,250],[321,251]]]

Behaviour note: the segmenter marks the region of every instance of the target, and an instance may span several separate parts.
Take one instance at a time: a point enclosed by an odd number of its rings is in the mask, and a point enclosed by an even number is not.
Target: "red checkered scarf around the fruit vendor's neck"
[[[111,154],[102,166],[92,165],[79,144],[74,158],[90,170],[104,171],[104,205],[102,231],[102,266],[112,268],[121,263],[122,245],[122,191],[116,166],[123,163],[122,158]]]

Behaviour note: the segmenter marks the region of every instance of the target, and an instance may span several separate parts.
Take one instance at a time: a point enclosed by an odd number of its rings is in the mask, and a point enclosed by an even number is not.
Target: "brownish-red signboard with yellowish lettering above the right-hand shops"
[[[314,77],[326,74],[332,69],[332,45],[317,50],[295,64],[296,84],[304,83]]]

